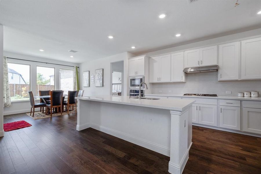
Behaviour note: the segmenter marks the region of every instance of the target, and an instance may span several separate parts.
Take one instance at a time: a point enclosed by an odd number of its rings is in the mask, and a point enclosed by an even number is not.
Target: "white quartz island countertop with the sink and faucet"
[[[152,98],[152,97],[148,97],[148,98]],[[132,106],[143,106],[143,107],[168,109],[168,110],[177,110],[177,111],[183,111],[189,105],[195,102],[195,100],[184,100],[184,99],[158,99],[158,100],[136,99],[136,98],[129,98],[129,96],[117,96],[117,95],[76,97],[76,99],[115,103],[115,104],[125,104],[125,105],[132,105]]]

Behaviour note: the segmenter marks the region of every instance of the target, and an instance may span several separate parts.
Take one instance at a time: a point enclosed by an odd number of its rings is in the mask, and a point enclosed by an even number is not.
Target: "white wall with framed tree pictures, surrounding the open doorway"
[[[92,61],[88,61],[80,64],[80,86],[84,90],[83,96],[93,96],[93,95],[109,95],[112,89],[112,62],[124,61],[124,79],[129,78],[129,57],[134,57],[133,54],[129,52],[123,52],[117,55],[112,55],[109,57],[104,57],[100,59],[95,59]],[[103,87],[95,87],[95,84],[90,83],[90,87],[83,87],[83,71],[90,71],[90,76],[95,74],[96,69],[103,68]],[[124,80],[124,95],[127,94],[128,90],[128,80]]]

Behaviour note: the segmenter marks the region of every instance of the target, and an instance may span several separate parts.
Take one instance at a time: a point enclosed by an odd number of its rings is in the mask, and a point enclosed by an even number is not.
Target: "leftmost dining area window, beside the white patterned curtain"
[[[30,65],[8,63],[7,66],[11,101],[29,100]]]

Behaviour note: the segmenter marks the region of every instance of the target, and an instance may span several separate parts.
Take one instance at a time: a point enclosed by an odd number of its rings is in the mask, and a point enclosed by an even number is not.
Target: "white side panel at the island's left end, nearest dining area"
[[[77,131],[81,131],[91,126],[90,106],[91,101],[77,99]]]

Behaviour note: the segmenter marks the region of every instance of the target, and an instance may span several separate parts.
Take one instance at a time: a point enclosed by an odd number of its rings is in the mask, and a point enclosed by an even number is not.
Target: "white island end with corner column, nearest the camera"
[[[181,174],[189,158],[192,144],[192,105],[183,111],[170,110],[169,173]]]

